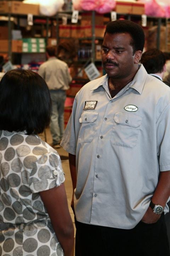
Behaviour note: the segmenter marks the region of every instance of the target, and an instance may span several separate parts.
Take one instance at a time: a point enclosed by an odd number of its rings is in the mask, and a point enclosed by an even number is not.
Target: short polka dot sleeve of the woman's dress
[[[58,187],[65,180],[60,156],[55,152],[42,155],[35,162],[32,174],[28,179],[32,193]]]

